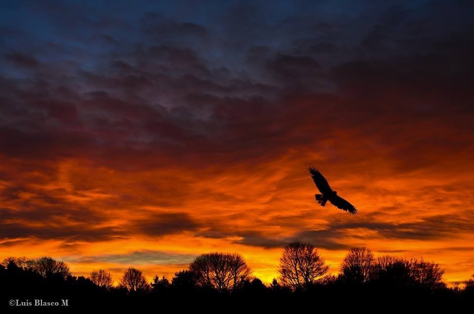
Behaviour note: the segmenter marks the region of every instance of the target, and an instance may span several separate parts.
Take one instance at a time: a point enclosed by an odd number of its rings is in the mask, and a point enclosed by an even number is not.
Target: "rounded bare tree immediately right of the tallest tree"
[[[341,272],[345,280],[362,283],[370,278],[374,265],[372,251],[365,247],[354,247],[341,263]]]

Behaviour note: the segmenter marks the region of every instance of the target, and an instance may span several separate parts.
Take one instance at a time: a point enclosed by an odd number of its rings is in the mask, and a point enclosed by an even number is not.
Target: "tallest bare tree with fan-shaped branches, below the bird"
[[[285,245],[278,273],[283,285],[299,289],[314,284],[328,270],[313,244],[293,240]]]

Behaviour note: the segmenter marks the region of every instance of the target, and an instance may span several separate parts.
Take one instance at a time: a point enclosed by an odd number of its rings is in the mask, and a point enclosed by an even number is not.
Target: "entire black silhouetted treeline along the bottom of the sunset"
[[[472,302],[474,275],[462,286],[448,288],[438,264],[423,259],[375,257],[365,247],[351,249],[340,273],[329,266],[317,248],[291,241],[284,247],[278,278],[264,284],[252,275],[237,253],[213,252],[195,258],[171,278],[156,275],[148,282],[142,271],[127,268],[118,286],[111,273],[95,270],[88,277],[73,276],[66,263],[50,257],[7,258],[0,265],[3,306],[8,300],[68,299],[71,307],[123,308],[135,306],[207,307],[209,304],[257,302],[260,305],[333,303],[335,307],[375,303],[452,305]]]

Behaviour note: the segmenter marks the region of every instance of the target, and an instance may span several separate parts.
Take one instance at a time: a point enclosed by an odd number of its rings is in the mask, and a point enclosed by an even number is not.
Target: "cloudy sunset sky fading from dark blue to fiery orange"
[[[333,274],[367,246],[469,278],[473,6],[1,1],[0,258],[118,281],[237,252],[269,282],[298,238]]]

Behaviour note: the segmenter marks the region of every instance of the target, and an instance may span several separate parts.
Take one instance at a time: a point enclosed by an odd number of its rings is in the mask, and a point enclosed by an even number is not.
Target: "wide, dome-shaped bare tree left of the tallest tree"
[[[250,268],[237,253],[207,253],[199,255],[189,267],[196,275],[197,284],[219,291],[239,287],[250,277]]]

